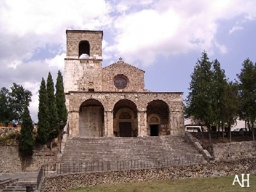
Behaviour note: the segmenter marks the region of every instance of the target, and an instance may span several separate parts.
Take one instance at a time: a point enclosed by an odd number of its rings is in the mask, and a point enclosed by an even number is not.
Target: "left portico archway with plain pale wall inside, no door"
[[[104,136],[104,108],[99,100],[85,100],[79,108],[79,136]]]

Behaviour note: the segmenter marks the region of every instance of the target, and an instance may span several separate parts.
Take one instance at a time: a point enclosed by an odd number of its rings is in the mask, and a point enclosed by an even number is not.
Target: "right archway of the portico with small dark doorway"
[[[147,135],[169,135],[169,107],[163,100],[152,100],[147,106]]]

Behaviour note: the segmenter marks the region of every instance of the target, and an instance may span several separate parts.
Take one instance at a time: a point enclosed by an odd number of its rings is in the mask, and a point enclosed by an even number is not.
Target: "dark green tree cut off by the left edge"
[[[8,124],[12,121],[11,118],[11,109],[9,102],[9,90],[5,87],[0,90],[0,122],[4,124]]]

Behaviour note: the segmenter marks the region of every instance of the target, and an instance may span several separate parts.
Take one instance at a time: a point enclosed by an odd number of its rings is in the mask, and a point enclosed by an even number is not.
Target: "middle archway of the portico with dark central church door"
[[[113,133],[120,137],[138,136],[137,108],[131,100],[123,99],[114,106]]]

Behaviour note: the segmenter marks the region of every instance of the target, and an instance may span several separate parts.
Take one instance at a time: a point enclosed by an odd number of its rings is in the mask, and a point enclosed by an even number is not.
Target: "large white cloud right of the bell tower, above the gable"
[[[143,65],[151,65],[159,56],[193,50],[213,54],[214,47],[225,54],[227,47],[215,40],[218,22],[256,15],[253,1],[160,0],[148,1],[150,7],[141,10],[131,9],[135,1],[120,4],[130,10],[115,20],[115,44],[106,51],[113,52],[116,58],[122,56],[132,64],[138,61]]]

